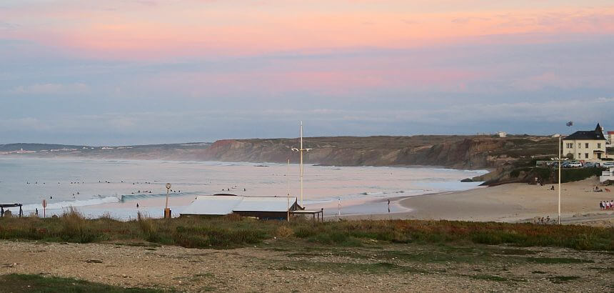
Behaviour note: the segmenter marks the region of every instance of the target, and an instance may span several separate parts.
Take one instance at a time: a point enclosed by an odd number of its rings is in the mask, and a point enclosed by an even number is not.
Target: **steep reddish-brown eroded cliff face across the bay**
[[[556,153],[556,142],[538,136],[369,136],[310,137],[308,164],[336,166],[424,165],[457,169],[498,169],[518,159]],[[203,160],[298,162],[298,139],[226,139],[203,151]],[[521,150],[520,152],[518,150]]]

